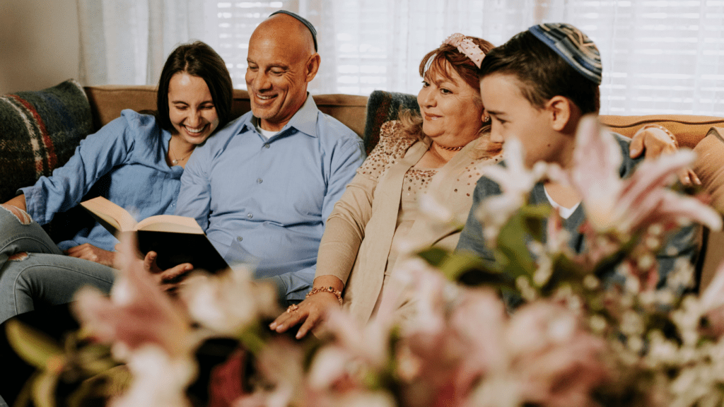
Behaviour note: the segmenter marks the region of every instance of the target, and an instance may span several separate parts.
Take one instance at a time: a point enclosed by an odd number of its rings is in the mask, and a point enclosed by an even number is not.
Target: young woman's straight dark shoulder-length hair
[[[219,116],[220,129],[231,119],[231,103],[233,85],[229,70],[224,59],[210,46],[201,41],[185,43],[177,46],[164,64],[159,78],[159,93],[156,98],[156,108],[159,109],[159,125],[165,130],[175,133],[174,126],[169,119],[169,83],[171,78],[179,72],[198,76],[209,86],[211,98],[214,99],[216,114]]]

